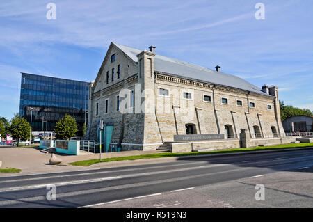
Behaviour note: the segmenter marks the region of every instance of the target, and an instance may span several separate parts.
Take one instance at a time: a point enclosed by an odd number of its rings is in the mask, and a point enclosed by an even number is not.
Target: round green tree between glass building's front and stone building
[[[75,118],[65,114],[61,120],[56,122],[54,132],[56,132],[56,138],[69,140],[72,136],[77,133],[77,123]]]

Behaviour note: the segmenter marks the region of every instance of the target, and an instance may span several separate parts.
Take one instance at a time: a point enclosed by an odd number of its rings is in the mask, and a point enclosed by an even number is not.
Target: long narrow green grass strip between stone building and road
[[[185,153],[162,152],[162,153],[156,153],[156,154],[143,154],[143,155],[128,156],[128,157],[111,157],[111,158],[102,159],[101,162],[150,159],[150,158],[162,158],[162,157],[184,157],[184,156],[196,156],[196,155],[204,155],[204,154],[249,152],[249,151],[257,151],[257,150],[283,150],[283,149],[289,149],[289,148],[305,148],[305,147],[313,147],[313,143],[290,143],[290,144],[274,145],[274,146],[268,146],[268,147],[236,148],[236,149],[229,149],[229,150],[209,151],[209,152],[185,152]],[[89,159],[89,160],[77,161],[77,162],[70,163],[70,164],[73,166],[90,166],[92,164],[97,164],[99,162],[100,162],[99,159]]]

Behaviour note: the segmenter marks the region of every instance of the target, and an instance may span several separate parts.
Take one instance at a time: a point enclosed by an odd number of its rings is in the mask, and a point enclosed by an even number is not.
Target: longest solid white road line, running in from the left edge
[[[68,182],[59,182],[59,183],[49,183],[49,184],[54,184],[55,186],[65,186],[69,184],[83,184],[83,183],[88,183],[88,182],[99,182],[99,181],[104,181],[104,180],[115,180],[115,179],[120,179],[122,177],[104,177],[104,178],[97,178],[97,179],[90,179],[90,180],[74,180],[74,181],[68,181]],[[38,189],[42,187],[47,187],[49,184],[38,184],[38,185],[31,185],[31,186],[24,186],[24,187],[9,187],[9,188],[3,188],[0,189],[1,192],[8,192],[8,191],[19,191],[19,190],[24,190],[24,189]]]

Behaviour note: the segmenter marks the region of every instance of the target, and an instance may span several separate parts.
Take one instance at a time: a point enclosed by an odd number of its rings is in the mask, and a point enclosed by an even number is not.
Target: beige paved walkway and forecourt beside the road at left
[[[133,156],[140,154],[152,154],[158,153],[159,150],[152,151],[123,151],[123,152],[109,152],[102,153],[102,159],[109,157],[125,157],[125,156]],[[1,168],[18,168],[21,169],[22,172],[19,174],[29,174],[29,173],[54,173],[61,171],[77,171],[77,170],[86,170],[89,168],[99,168],[102,167],[111,167],[111,166],[123,166],[127,165],[131,162],[133,163],[144,163],[145,161],[154,162],[151,160],[136,160],[136,161],[114,161],[108,163],[100,163],[93,164],[92,166],[72,166],[68,165],[68,163],[87,160],[87,159],[99,159],[99,154],[90,154],[88,152],[83,152],[81,155],[65,155],[65,154],[56,154],[57,157],[62,159],[63,165],[55,166],[49,165],[49,159],[51,158],[51,154],[46,154],[40,152],[39,148],[13,148],[9,147],[0,147],[0,161],[2,161]],[[17,174],[17,173],[15,173]],[[12,175],[11,173],[0,173],[0,177],[3,175]]]

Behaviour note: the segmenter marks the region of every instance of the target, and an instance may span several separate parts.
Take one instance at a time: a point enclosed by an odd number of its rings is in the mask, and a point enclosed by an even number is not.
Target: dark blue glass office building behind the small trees
[[[69,114],[81,134],[87,111],[87,82],[22,73],[19,115],[31,122],[33,131],[53,131],[56,122]]]

